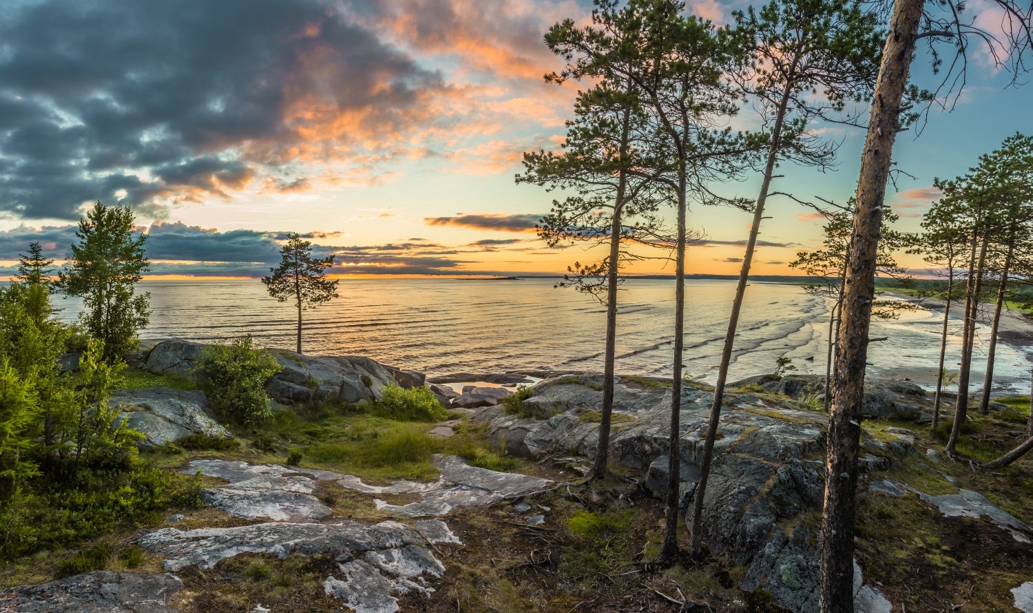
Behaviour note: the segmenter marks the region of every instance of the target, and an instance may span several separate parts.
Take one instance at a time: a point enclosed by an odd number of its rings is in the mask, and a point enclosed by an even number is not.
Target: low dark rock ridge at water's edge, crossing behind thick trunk
[[[781,378],[764,374],[730,384],[730,387],[759,386],[772,394],[796,400],[807,397],[824,398],[824,377],[817,374],[788,374]],[[893,379],[865,380],[862,415],[866,418],[916,420],[932,406],[932,399],[919,386]]]

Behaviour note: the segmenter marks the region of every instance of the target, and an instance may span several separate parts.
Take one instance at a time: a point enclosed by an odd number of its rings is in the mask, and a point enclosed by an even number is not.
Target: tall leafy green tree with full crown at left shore
[[[71,264],[60,274],[59,287],[83,298],[80,315],[87,333],[104,343],[103,357],[120,360],[135,348],[137,333],[150,320],[150,294],[135,293],[149,269],[144,243],[128,207],[94,204],[79,222]]]

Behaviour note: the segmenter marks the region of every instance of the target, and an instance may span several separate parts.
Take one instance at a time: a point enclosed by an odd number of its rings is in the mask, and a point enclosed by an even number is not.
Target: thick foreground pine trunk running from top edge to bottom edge
[[[853,612],[854,494],[879,234],[886,181],[893,163],[890,154],[922,4],[924,0],[898,0],[894,8],[875,84],[857,182],[857,208],[847,252],[847,274],[843,279],[839,355],[828,420],[818,591],[818,607],[822,613]]]

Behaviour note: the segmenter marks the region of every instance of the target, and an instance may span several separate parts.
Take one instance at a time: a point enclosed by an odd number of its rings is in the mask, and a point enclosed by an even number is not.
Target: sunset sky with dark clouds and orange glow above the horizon
[[[745,0],[692,0],[718,24]],[[287,233],[336,254],[336,275],[556,274],[597,251],[547,247],[555,193],[513,177],[564,140],[576,84],[542,42],[583,0],[5,0],[0,3],[0,276],[30,241],[64,257],[93,201],[133,208],[156,278],[267,274]],[[993,29],[984,0],[972,19]],[[947,113],[898,136],[887,196],[916,231],[936,177],[1033,132],[1033,86],[1006,87],[982,48]],[[919,50],[914,81],[935,86]],[[744,109],[735,127],[756,127]],[[860,128],[832,172],[784,164],[773,189],[845,202]],[[904,174],[906,173],[906,175]],[[909,175],[909,176],[908,176]],[[755,197],[759,173],[720,186]],[[821,220],[769,202],[755,274],[793,274]],[[672,217],[672,213],[669,213]],[[751,215],[696,208],[690,273],[738,273]],[[920,272],[921,263],[904,257]],[[634,274],[669,274],[658,259]]]

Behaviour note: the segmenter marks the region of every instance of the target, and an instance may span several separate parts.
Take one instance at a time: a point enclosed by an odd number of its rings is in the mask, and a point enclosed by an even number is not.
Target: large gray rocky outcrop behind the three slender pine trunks
[[[593,457],[598,437],[602,379],[565,376],[542,381],[523,400],[520,415],[482,408],[490,438],[507,453],[528,457],[576,453]],[[611,454],[615,462],[645,470],[645,485],[662,494],[669,451],[670,390],[652,381],[621,379],[615,390]],[[682,389],[681,499],[695,495],[710,391]],[[769,590],[793,611],[817,606],[817,534],[806,521],[824,489],[822,454],[827,416],[769,394],[729,393],[721,416],[703,502],[703,534],[711,551],[748,569],[742,587]],[[530,416],[530,417],[522,417]],[[863,437],[862,466],[885,469],[905,456],[913,439],[886,429]]]

